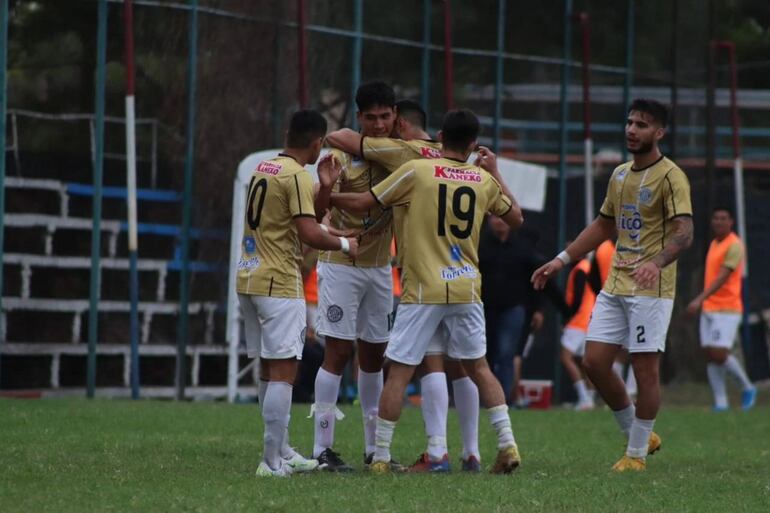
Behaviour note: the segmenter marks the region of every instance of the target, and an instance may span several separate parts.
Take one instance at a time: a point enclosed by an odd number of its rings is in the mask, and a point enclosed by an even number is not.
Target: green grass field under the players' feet
[[[293,410],[292,443],[312,445],[308,407]],[[337,449],[361,462],[360,410],[347,407]],[[450,412],[449,444],[459,435]],[[770,406],[713,414],[668,404],[663,450],[643,474],[615,475],[624,443],[607,411],[513,411],[522,467],[513,475],[316,473],[257,479],[255,405],[158,401],[0,400],[0,511],[265,512],[768,512]],[[494,433],[481,418],[483,463]],[[393,454],[424,446],[418,409],[405,410]],[[459,467],[459,465],[456,465]]]

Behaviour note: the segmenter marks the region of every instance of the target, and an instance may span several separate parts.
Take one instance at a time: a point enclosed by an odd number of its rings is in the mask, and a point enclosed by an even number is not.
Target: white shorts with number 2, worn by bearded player
[[[618,344],[629,353],[662,353],[673,308],[673,299],[617,296],[601,291],[586,340]]]

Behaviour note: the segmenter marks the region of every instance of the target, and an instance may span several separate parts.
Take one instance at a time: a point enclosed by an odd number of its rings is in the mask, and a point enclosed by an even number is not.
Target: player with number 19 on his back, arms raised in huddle
[[[333,203],[362,211],[373,205],[409,205],[405,225],[403,292],[386,356],[391,361],[377,418],[373,472],[390,471],[390,445],[401,402],[416,366],[437,330],[449,338],[447,353],[479,389],[498,437],[492,472],[508,473],[520,462],[500,383],[487,365],[480,302],[478,240],[486,212],[517,228],[521,210],[502,183],[496,158],[486,148],[477,165],[466,160],[476,147],[479,123],[468,110],[450,111],[439,136],[442,158],[412,160],[370,193],[337,194]]]

